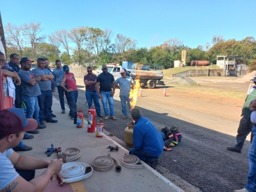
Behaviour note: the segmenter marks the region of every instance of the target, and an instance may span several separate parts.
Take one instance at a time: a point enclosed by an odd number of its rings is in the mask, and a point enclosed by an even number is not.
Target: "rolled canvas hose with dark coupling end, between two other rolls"
[[[121,166],[119,166],[116,159],[110,157],[110,154],[96,157],[92,160],[92,167],[96,171],[108,171],[112,168],[113,164],[116,164],[115,171],[119,173],[121,171]]]

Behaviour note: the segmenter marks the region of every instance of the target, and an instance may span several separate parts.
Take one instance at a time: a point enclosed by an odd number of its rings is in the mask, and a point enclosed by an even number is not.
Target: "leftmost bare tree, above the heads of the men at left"
[[[5,27],[6,44],[9,47],[17,49],[22,58],[22,49],[24,48],[24,39],[22,36],[22,27],[8,23]]]

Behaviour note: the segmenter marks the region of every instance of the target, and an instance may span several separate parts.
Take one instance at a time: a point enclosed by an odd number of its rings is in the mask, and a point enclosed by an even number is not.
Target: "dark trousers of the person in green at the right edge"
[[[253,123],[250,122],[250,118],[243,116],[239,123],[239,128],[237,130],[237,143],[233,146],[233,148],[237,150],[241,150],[244,146],[244,141],[246,141],[246,137],[252,131]],[[250,142],[253,141],[253,134],[250,135]]]

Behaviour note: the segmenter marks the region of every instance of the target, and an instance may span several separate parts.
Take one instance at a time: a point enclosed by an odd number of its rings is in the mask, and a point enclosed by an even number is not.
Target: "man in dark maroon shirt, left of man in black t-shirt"
[[[88,107],[92,107],[92,100],[94,101],[96,113],[99,117],[101,115],[101,105],[99,104],[99,96],[96,91],[96,79],[97,76],[92,73],[92,67],[87,67],[87,74],[84,76],[83,81],[85,82],[85,97],[88,103]]]

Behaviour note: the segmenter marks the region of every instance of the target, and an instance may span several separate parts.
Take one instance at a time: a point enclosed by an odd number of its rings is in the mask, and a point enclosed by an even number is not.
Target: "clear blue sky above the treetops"
[[[1,0],[3,26],[40,22],[44,35],[78,26],[111,29],[137,48],[178,38],[196,48],[212,41],[256,38],[255,0]],[[114,39],[113,39],[114,40]]]

